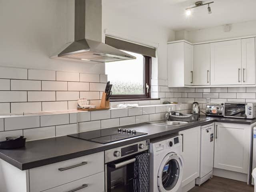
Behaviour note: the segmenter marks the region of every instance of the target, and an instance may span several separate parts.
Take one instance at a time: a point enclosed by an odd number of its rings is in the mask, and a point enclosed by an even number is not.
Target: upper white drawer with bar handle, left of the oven
[[[29,170],[30,192],[54,188],[103,170],[104,152],[32,168]]]

